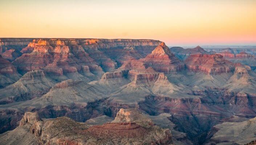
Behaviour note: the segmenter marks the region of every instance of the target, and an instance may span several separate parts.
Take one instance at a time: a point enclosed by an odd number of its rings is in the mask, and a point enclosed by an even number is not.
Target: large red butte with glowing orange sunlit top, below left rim
[[[73,44],[73,43],[72,43]],[[73,46],[71,49],[61,40],[33,40],[28,47],[33,47],[32,53],[23,54],[13,62],[21,72],[44,69],[54,75],[82,71],[82,67],[97,65],[89,54],[81,46]],[[77,56],[77,57],[76,57]],[[93,70],[93,69],[92,69]]]

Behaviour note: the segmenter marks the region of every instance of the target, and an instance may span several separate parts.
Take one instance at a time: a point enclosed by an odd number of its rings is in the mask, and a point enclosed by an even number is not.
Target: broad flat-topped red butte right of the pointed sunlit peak
[[[220,74],[231,72],[233,63],[225,60],[220,54],[192,54],[185,61],[190,71]]]

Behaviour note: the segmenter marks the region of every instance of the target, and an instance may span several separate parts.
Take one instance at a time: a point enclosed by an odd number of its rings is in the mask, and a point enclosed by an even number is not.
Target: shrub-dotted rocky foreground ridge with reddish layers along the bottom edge
[[[139,123],[140,121],[134,120],[134,122],[115,122],[90,126],[86,123],[75,122],[67,117],[41,121],[37,113],[27,112],[21,119],[20,126],[11,132],[1,134],[0,139],[2,140],[4,137],[12,135],[16,137],[16,140],[29,142],[28,140],[31,139],[25,136],[33,135],[35,137],[32,140],[34,144],[38,144],[38,142],[40,144],[172,143],[169,129],[162,129],[153,124],[148,124],[148,122],[142,125]],[[4,141],[4,143],[7,142]]]

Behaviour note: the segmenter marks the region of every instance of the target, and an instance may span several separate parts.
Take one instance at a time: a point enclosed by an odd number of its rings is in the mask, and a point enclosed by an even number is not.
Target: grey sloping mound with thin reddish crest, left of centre
[[[41,109],[47,106],[85,107],[89,102],[105,98],[102,90],[98,90],[86,82],[72,79],[55,84],[49,92],[40,98],[24,102],[22,106]]]

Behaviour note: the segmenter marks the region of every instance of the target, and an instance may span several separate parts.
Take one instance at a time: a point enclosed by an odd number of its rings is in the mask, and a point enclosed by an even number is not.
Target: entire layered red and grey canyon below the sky
[[[249,144],[255,50],[0,38],[0,144]]]

